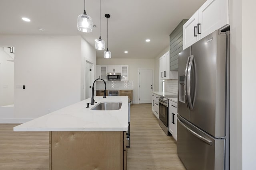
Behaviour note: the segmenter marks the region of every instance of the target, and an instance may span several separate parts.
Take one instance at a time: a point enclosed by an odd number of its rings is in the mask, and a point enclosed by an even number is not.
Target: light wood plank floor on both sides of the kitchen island
[[[0,170],[48,170],[49,133],[14,132],[14,126],[0,124]],[[128,170],[185,170],[176,141],[162,131],[151,104],[132,104],[130,133]]]

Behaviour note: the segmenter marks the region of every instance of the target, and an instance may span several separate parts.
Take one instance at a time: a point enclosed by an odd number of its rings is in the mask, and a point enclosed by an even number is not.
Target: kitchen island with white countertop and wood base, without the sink
[[[95,96],[14,127],[49,131],[49,169],[126,169],[128,97]],[[92,110],[101,102],[122,102],[118,110]]]

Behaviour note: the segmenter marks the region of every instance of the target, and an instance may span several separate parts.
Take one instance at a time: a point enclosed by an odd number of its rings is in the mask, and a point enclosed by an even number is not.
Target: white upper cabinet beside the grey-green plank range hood
[[[160,80],[178,79],[178,71],[170,71],[170,52],[168,51],[159,59]]]

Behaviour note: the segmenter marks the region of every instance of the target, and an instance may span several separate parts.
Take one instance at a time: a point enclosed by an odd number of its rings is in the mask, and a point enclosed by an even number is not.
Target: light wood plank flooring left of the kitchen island
[[[14,132],[0,124],[0,170],[48,170],[49,132]]]

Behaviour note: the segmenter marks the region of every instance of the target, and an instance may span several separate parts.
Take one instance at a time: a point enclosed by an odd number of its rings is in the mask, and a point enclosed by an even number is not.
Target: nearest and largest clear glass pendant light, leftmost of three
[[[92,18],[85,12],[85,0],[84,0],[84,14],[81,14],[77,18],[77,29],[84,33],[92,32]]]

